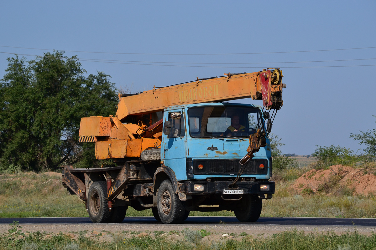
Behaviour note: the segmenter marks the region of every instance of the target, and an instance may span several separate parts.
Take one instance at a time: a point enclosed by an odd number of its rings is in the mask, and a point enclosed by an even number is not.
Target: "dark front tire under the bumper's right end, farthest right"
[[[243,196],[238,203],[238,208],[234,210],[236,218],[241,222],[254,222],[261,214],[262,200],[256,196]]]

